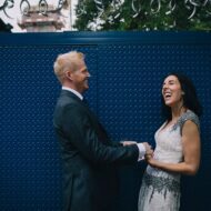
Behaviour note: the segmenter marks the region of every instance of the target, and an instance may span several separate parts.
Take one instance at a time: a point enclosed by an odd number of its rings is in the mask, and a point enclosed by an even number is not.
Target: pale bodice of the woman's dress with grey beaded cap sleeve
[[[183,113],[175,124],[164,128],[164,122],[161,128],[155,132],[154,140],[157,148],[154,150],[154,159],[167,163],[179,163],[183,159],[182,154],[182,141],[181,132],[182,127],[187,120],[193,121],[199,127],[199,118],[190,110]],[[179,181],[180,174],[169,173],[161,170],[157,170],[148,165],[147,172],[152,175],[164,177]]]

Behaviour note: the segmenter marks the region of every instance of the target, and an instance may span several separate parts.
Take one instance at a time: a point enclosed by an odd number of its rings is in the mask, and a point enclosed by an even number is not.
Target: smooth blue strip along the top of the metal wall
[[[22,44],[107,44],[107,43],[211,43],[211,32],[194,31],[103,31],[0,33],[0,46]]]

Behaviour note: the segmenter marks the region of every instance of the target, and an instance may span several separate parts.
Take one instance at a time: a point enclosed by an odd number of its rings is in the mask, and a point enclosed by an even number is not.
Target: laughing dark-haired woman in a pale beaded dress
[[[180,175],[197,173],[200,164],[202,109],[192,82],[182,74],[169,74],[162,86],[162,114],[165,122],[155,132],[153,157],[139,194],[139,211],[178,211]]]

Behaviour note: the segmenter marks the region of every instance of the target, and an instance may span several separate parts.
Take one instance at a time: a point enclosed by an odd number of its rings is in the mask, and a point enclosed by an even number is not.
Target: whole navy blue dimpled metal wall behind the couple
[[[70,32],[0,34],[0,210],[59,211],[61,165],[52,113],[60,84],[59,53],[79,50],[92,78],[89,103],[115,141],[154,145],[162,123],[163,77],[192,78],[204,114],[202,162],[182,178],[181,211],[201,211],[211,199],[211,34],[194,32]],[[137,211],[145,163],[121,167],[119,210]],[[207,191],[204,191],[207,190]]]

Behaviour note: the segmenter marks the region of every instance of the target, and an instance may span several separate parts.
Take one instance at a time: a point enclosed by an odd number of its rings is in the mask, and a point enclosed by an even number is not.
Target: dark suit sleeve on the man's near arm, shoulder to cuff
[[[134,163],[138,161],[137,145],[112,147],[103,144],[84,109],[68,105],[62,130],[78,151],[93,163]]]

